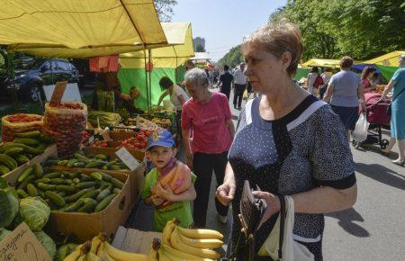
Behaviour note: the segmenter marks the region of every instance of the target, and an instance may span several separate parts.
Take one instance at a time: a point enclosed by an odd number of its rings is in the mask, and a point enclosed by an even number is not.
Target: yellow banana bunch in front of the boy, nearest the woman
[[[212,248],[221,247],[222,234],[211,229],[184,229],[178,226],[179,221],[169,220],[162,234],[159,248],[159,260],[210,260],[220,258]],[[177,257],[162,259],[161,256]],[[208,259],[204,259],[208,258]]]

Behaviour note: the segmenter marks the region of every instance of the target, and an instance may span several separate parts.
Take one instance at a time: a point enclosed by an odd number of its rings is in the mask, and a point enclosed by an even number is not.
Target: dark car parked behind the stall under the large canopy
[[[14,87],[17,97],[23,101],[37,102],[45,100],[43,85],[55,85],[56,82],[67,80],[67,83],[78,82],[76,67],[62,58],[35,58],[22,63],[24,67],[15,65],[14,78],[0,76],[0,92],[11,92]]]

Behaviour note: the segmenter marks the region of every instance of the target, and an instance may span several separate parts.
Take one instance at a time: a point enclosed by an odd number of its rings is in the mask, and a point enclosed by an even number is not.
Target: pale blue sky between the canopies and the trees
[[[205,38],[213,60],[268,21],[286,0],[177,0],[172,22],[192,23],[193,38]]]

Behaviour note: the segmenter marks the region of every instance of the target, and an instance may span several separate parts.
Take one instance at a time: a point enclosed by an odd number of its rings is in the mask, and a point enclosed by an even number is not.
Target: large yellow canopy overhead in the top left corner
[[[0,44],[36,56],[87,58],[167,40],[153,0],[4,0]]]

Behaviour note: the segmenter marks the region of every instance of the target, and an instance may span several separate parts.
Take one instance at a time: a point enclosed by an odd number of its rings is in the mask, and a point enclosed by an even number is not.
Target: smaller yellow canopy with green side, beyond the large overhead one
[[[153,67],[178,67],[194,56],[191,23],[161,23],[168,44],[171,46],[151,49]],[[145,67],[143,50],[120,55],[122,68]],[[148,58],[148,51],[146,51]]]

